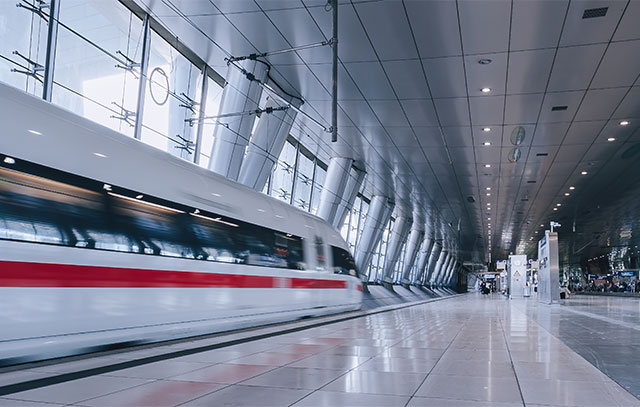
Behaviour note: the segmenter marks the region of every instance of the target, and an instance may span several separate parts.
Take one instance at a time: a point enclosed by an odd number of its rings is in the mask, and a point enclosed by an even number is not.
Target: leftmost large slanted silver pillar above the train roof
[[[267,66],[258,61],[241,62],[256,79],[263,81],[267,77]],[[237,68],[229,65],[227,84],[222,91],[218,115],[246,112],[258,108],[262,87],[256,81],[250,81]],[[244,150],[249,144],[255,115],[241,115],[219,118],[221,123],[213,130],[213,148],[209,169],[236,181],[244,158]]]

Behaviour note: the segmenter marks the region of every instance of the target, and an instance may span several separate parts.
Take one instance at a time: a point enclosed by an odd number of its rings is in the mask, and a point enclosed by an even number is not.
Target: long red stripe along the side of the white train
[[[0,261],[0,287],[347,288],[347,282],[245,274]]]

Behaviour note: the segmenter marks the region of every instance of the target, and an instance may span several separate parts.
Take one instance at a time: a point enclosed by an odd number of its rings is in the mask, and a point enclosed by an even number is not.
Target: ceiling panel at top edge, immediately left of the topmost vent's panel
[[[567,5],[567,0],[514,1],[511,50],[555,47]]]

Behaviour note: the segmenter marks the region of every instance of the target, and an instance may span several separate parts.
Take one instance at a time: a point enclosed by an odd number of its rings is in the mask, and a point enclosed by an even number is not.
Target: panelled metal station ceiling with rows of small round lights
[[[326,0],[135,1],[222,76],[225,57],[331,37]],[[362,161],[370,195],[424,208],[465,260],[535,257],[552,219],[566,258],[633,247],[638,21],[639,1],[341,0],[339,141],[301,116],[294,135]],[[330,48],[267,59],[329,126]]]

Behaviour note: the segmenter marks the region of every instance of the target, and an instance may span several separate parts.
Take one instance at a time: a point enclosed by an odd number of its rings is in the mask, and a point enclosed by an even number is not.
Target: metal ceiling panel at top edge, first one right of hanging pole
[[[402,4],[362,2],[354,7],[381,60],[418,57]]]

